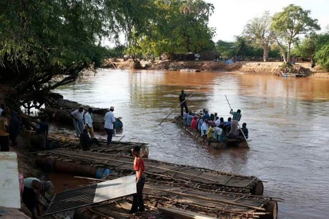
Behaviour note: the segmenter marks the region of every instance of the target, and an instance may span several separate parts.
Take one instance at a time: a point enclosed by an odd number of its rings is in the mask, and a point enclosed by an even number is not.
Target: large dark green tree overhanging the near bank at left
[[[0,83],[5,102],[21,113],[49,105],[51,90],[71,83],[106,55],[101,39],[145,32],[154,1],[0,1]],[[128,25],[129,24],[129,25]]]

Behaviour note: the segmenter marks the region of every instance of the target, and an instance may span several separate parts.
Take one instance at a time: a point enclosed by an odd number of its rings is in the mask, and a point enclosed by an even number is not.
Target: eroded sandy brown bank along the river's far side
[[[306,75],[310,77],[329,78],[329,72],[315,68],[310,68],[308,62],[296,63],[302,66]],[[222,71],[241,71],[244,73],[256,73],[260,75],[276,75],[280,73],[280,66],[282,62],[234,62],[232,64],[225,64],[225,62],[214,61],[170,61],[170,60],[156,60],[141,61],[141,67],[145,69],[155,70],[180,70],[184,68],[193,68],[199,70],[222,70]],[[133,60],[110,59],[106,62],[104,68],[119,68],[132,69],[134,66]]]

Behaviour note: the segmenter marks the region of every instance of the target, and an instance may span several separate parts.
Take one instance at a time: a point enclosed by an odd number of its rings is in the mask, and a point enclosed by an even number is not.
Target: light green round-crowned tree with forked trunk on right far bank
[[[276,42],[284,50],[280,39],[287,43],[287,60],[290,62],[291,44],[300,34],[310,34],[320,27],[317,19],[310,18],[310,10],[303,10],[300,6],[290,4],[282,12],[273,15],[271,29],[276,34]]]

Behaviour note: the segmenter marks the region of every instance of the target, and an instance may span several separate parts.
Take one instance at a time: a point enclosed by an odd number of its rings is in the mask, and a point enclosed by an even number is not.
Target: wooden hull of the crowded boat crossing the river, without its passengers
[[[195,129],[191,129],[187,127],[185,122],[182,120],[180,116],[175,116],[175,123],[184,129],[189,136],[191,136],[195,141],[199,144],[211,146],[214,149],[230,149],[230,148],[239,148],[239,149],[249,149],[248,142],[242,138],[237,139],[229,139],[224,138],[219,141],[209,141],[206,138],[202,138],[201,133]]]

